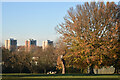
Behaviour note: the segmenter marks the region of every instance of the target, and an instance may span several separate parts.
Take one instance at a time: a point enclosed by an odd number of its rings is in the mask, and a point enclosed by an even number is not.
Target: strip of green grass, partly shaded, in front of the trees
[[[89,74],[1,74],[2,80],[120,80],[120,75]]]

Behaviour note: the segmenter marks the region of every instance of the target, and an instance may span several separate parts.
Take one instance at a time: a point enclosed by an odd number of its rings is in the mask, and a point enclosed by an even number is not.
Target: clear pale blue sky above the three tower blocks
[[[9,38],[24,45],[25,40],[33,38],[37,45],[42,41],[58,38],[55,27],[63,22],[70,7],[81,2],[3,2],[2,3],[2,43]],[[39,42],[38,42],[39,41]]]

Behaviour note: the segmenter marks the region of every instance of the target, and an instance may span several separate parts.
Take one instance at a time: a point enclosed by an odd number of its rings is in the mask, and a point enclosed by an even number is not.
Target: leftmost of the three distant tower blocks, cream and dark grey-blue
[[[17,49],[17,40],[13,38],[5,40],[5,48],[9,51],[15,51]]]

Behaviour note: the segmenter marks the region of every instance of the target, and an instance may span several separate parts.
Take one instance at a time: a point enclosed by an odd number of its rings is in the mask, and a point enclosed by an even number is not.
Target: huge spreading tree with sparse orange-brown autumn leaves
[[[65,22],[56,27],[63,42],[70,44],[72,53],[90,67],[90,74],[94,74],[93,68],[105,65],[103,57],[112,50],[108,46],[117,38],[117,11],[114,2],[106,5],[104,2],[86,2],[77,5],[76,9],[70,8],[64,17]]]

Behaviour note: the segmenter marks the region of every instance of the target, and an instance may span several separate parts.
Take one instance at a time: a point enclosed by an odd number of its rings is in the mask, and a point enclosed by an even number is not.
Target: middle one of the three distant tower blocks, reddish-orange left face
[[[25,50],[26,51],[32,51],[36,48],[36,40],[29,39],[25,41]]]

